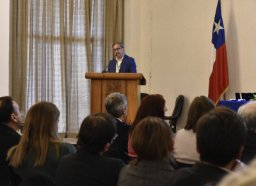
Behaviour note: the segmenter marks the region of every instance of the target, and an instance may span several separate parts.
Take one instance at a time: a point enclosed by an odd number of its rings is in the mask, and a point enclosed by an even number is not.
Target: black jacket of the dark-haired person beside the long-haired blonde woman
[[[56,185],[117,185],[120,170],[125,166],[120,159],[90,154],[78,148],[74,154],[61,157],[56,171]]]

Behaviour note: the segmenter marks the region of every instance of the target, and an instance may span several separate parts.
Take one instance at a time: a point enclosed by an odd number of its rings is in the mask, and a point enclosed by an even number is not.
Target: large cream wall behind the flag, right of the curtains
[[[184,109],[178,129],[186,124],[193,98],[208,95],[211,32],[217,3],[217,0],[125,0],[125,28],[129,29],[125,29],[124,44],[126,53],[140,67],[138,72],[147,79],[141,92],[162,94],[168,108],[166,115],[172,114],[175,98],[183,94]],[[235,92],[256,92],[256,1],[221,1],[221,10],[230,79],[227,99],[230,99]]]

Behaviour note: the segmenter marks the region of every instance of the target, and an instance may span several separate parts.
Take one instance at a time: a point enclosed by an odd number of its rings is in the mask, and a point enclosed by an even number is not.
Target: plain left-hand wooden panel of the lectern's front
[[[91,80],[91,114],[101,112],[102,80]]]

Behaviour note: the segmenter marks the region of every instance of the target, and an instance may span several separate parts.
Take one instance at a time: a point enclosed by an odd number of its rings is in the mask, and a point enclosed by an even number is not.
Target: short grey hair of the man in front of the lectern
[[[121,117],[123,109],[127,108],[126,96],[118,92],[109,94],[105,100],[105,108],[111,116],[115,118]]]

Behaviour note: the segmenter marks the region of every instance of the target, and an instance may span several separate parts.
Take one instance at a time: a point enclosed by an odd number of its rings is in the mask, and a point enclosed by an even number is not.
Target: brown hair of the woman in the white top
[[[208,111],[216,108],[215,104],[205,96],[195,97],[188,109],[188,119],[184,129],[196,131],[196,122],[197,120],[207,113]]]

